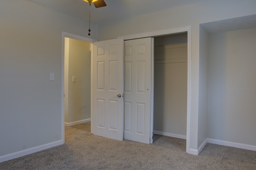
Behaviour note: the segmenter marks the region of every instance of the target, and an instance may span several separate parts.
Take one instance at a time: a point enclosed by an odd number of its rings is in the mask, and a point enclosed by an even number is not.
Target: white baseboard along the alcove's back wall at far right
[[[217,139],[209,139],[209,138],[208,138],[208,143],[213,143],[213,144],[217,144],[217,145],[224,145],[224,146],[227,146],[227,147],[235,147],[235,148],[240,148],[240,149],[248,149],[248,150],[256,151],[256,146],[254,146],[254,145],[246,145],[246,144],[242,144],[242,143],[220,141],[220,140],[217,140]]]

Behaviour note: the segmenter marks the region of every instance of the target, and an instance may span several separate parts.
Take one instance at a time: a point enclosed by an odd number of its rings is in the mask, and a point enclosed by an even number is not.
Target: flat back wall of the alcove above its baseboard
[[[208,138],[256,146],[256,28],[209,35]]]

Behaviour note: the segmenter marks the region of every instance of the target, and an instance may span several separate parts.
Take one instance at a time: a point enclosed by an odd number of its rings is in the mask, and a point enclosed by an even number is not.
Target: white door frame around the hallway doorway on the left
[[[65,143],[65,124],[64,124],[64,60],[65,60],[65,37],[72,38],[80,41],[86,41],[88,43],[94,43],[97,40],[82,37],[79,35],[62,32],[62,50],[61,50],[61,141]],[[93,49],[92,49],[93,50]],[[92,52],[91,52],[91,63],[92,63]],[[91,64],[91,88],[92,88],[92,64]],[[92,101],[92,90],[91,90],[91,101]],[[91,103],[92,108],[92,103]]]

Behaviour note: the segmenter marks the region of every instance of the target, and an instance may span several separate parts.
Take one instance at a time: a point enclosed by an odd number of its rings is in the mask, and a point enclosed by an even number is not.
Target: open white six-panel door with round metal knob
[[[120,141],[124,124],[123,56],[123,39],[94,42],[93,134]]]

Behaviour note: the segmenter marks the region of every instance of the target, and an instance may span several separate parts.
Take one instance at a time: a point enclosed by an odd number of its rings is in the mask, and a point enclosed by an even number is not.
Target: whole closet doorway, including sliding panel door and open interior
[[[188,33],[126,40],[124,48],[124,139],[152,143],[149,133],[186,139]]]

